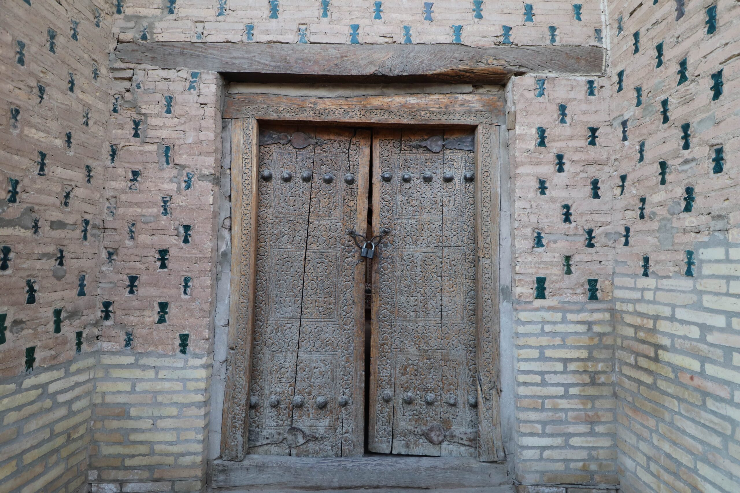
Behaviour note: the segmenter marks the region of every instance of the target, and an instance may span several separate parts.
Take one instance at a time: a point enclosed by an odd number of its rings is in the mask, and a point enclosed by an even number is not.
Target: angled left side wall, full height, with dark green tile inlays
[[[0,492],[87,489],[110,13],[0,6]]]

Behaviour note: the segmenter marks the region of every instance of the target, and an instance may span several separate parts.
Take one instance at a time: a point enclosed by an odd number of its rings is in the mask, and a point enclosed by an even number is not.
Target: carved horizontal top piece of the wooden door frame
[[[233,94],[224,98],[223,118],[306,120],[327,124],[408,125],[494,123],[503,115],[501,92],[314,98]]]

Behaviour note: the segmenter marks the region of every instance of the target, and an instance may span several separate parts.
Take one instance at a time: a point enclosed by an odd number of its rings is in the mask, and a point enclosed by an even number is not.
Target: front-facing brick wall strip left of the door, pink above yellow
[[[113,64],[90,480],[203,487],[221,78]],[[163,483],[164,484],[164,483]],[[164,486],[163,486],[164,487]]]

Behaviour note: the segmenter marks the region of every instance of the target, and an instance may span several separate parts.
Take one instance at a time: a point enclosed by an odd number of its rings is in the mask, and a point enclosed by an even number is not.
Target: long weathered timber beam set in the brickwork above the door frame
[[[129,64],[221,72],[231,80],[502,84],[511,75],[602,75],[591,46],[466,47],[457,44],[119,43]]]

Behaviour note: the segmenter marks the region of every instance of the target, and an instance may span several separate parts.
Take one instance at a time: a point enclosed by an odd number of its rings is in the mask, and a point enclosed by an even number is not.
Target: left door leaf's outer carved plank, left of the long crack
[[[271,127],[293,135],[296,126]],[[264,131],[265,129],[263,129]],[[306,132],[303,129],[303,132]],[[305,135],[301,133],[300,135]],[[261,139],[260,139],[261,140]],[[255,270],[255,336],[249,411],[249,454],[289,455],[298,334],[303,299],[312,149],[290,143],[259,145]],[[263,173],[271,173],[266,180]],[[289,180],[283,180],[288,173]],[[291,436],[291,438],[297,438]],[[297,443],[293,441],[292,443]]]

